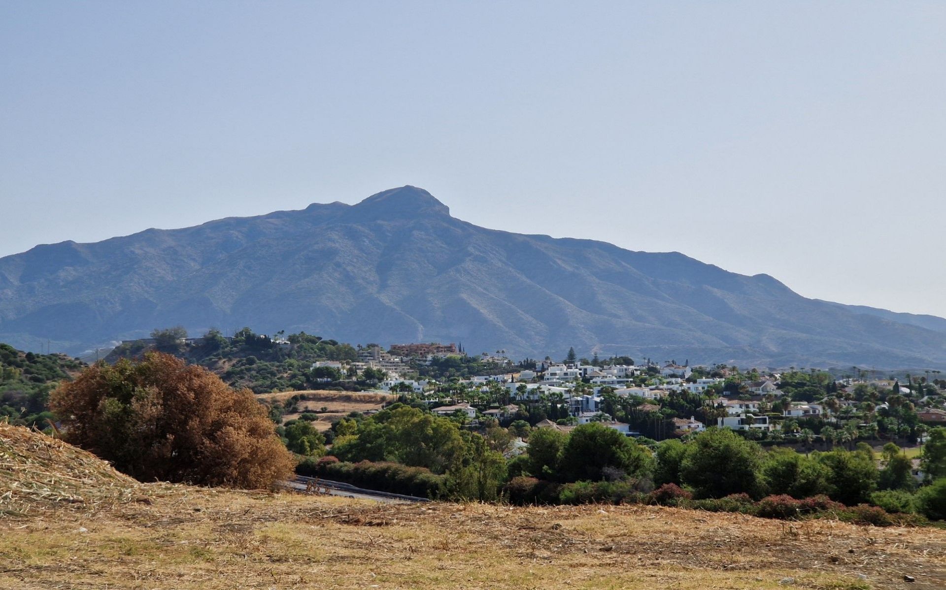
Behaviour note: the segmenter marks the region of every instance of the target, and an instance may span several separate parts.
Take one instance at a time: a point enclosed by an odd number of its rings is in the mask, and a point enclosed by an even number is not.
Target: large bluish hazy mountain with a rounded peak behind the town
[[[513,356],[574,346],[692,363],[946,365],[946,320],[911,318],[678,252],[481,228],[412,186],[0,258],[0,341],[74,353],[183,324]]]

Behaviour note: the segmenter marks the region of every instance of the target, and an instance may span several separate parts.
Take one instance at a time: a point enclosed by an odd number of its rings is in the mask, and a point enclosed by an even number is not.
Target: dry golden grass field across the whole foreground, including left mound
[[[0,495],[0,588],[946,587],[941,529],[140,484],[5,425]]]

